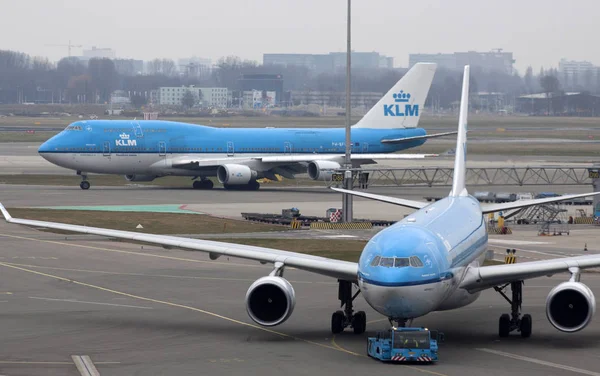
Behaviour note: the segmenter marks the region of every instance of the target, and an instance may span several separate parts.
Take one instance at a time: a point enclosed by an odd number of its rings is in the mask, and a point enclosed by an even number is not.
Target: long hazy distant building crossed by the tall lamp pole
[[[352,52],[353,68],[378,69],[394,67],[394,58],[378,52]],[[306,67],[315,73],[333,73],[346,69],[346,53],[329,54],[263,54],[263,65]]]

